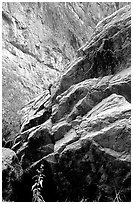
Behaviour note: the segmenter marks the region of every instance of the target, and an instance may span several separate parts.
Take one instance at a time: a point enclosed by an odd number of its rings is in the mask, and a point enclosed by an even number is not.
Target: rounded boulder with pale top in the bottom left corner
[[[2,148],[2,198],[4,201],[17,199],[15,186],[20,182],[22,168],[14,151]]]

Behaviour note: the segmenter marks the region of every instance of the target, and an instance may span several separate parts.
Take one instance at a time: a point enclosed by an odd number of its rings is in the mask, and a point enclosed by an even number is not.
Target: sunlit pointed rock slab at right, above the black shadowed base
[[[130,161],[130,115],[131,104],[124,97],[112,94],[89,111],[76,127],[74,126],[77,138],[94,140],[102,147],[128,154],[127,160]],[[67,133],[66,138],[69,140],[71,138],[69,143],[72,143],[72,148],[76,148],[80,140],[73,144],[73,131],[71,131]],[[56,142],[56,146],[58,143],[59,141]],[[63,141],[59,144],[64,146]],[[66,149],[69,148],[71,144],[68,147],[66,145]]]

